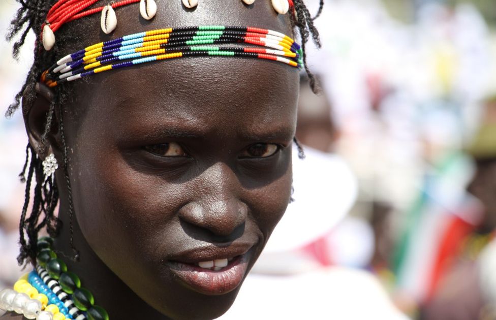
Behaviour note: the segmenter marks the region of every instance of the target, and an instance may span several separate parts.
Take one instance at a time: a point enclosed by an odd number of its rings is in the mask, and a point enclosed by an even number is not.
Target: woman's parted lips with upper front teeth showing
[[[222,295],[238,287],[253,256],[252,244],[204,246],[174,255],[170,270],[190,289],[205,295]]]

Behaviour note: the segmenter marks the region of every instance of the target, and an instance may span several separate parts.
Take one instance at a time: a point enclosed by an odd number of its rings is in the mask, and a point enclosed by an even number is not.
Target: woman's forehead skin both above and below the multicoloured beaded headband
[[[128,34],[170,26],[245,25],[282,31],[291,35],[288,15],[277,15],[270,2],[245,6],[241,1],[205,1],[186,10],[180,1],[157,2],[151,21],[139,16],[138,6],[116,10],[119,22],[111,36],[103,34],[98,21],[91,42],[80,47]],[[94,19],[93,19],[94,20]],[[76,25],[78,21],[71,22]],[[74,25],[70,27],[73,28]],[[77,32],[75,30],[75,32]],[[79,49],[71,48],[73,51]],[[246,121],[294,122],[298,71],[274,61],[238,57],[192,57],[157,61],[91,76],[77,83],[76,101],[88,118],[107,115],[174,116],[176,119],[208,119],[210,124]],[[88,110],[89,109],[89,110]],[[87,113],[89,111],[89,113]]]

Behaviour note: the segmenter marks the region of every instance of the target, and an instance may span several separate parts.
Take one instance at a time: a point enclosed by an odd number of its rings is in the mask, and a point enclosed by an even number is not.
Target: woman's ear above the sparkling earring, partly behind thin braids
[[[46,139],[43,139],[50,104],[53,102],[55,94],[49,87],[40,82],[35,85],[35,92],[36,97],[31,106],[24,105],[28,99],[22,100],[22,109],[25,111],[23,112],[24,124],[30,145],[35,149],[38,156],[45,159],[50,153],[56,154],[60,149],[58,114],[57,110],[54,110],[50,130],[46,135]]]

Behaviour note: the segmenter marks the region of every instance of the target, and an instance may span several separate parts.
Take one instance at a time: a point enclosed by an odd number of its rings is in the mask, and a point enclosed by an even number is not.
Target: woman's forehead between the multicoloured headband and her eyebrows
[[[84,122],[100,122],[101,127],[118,123],[134,132],[173,126],[198,135],[220,127],[252,135],[294,131],[295,71],[257,60],[169,62],[108,73],[98,85],[90,84],[86,98],[80,99],[86,108]]]

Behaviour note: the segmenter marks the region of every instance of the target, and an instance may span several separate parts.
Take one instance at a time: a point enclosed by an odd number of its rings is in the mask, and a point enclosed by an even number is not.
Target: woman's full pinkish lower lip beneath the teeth
[[[249,252],[235,258],[219,271],[203,269],[198,266],[171,262],[171,271],[194,291],[204,295],[223,295],[243,281],[248,268]]]

